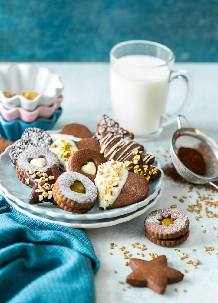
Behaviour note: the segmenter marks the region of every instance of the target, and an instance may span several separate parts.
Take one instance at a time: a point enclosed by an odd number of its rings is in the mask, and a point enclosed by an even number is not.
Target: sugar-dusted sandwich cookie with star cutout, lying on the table
[[[189,236],[189,219],[182,211],[165,208],[151,212],[144,220],[145,236],[161,246],[175,246]]]

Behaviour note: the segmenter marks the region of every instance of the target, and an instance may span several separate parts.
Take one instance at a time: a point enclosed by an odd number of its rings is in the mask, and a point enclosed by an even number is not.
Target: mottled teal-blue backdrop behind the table
[[[177,62],[218,62],[218,0],[0,2],[0,60],[108,61],[129,39],[163,43]]]

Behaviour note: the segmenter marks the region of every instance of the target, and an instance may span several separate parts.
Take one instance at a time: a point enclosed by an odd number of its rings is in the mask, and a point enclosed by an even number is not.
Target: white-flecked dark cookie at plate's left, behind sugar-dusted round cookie
[[[12,165],[17,165],[17,159],[22,151],[30,147],[45,147],[49,148],[52,143],[51,136],[41,128],[29,127],[22,136],[21,140],[15,143],[9,151],[9,159]]]

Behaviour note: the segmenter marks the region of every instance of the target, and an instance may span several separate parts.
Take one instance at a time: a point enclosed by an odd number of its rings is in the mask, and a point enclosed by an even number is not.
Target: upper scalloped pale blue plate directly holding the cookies
[[[28,198],[32,189],[19,180],[16,169],[11,165],[8,157],[9,146],[0,155],[0,189],[10,200],[15,201],[19,206],[38,214],[46,215],[52,218],[70,219],[70,220],[101,220],[126,215],[145,207],[152,199],[158,195],[158,191],[163,185],[163,172],[161,178],[149,183],[149,192],[147,197],[132,205],[102,211],[98,209],[96,202],[94,207],[87,214],[72,214],[65,210],[59,209],[48,202],[40,204],[29,204]],[[155,163],[159,168],[160,164]]]

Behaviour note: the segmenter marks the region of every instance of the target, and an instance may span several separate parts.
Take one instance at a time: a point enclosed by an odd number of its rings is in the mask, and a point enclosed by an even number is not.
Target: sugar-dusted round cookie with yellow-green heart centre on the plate
[[[74,171],[61,174],[52,188],[59,208],[78,214],[90,211],[97,199],[97,189],[86,176]]]

